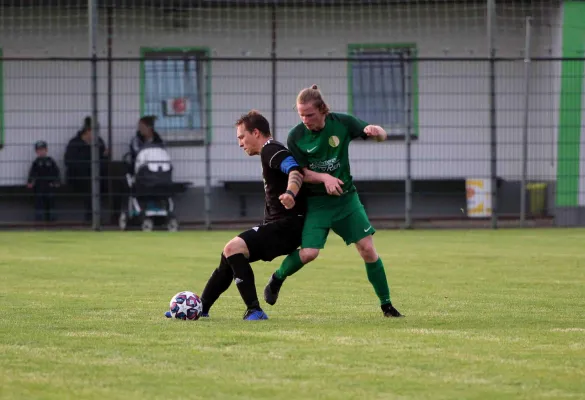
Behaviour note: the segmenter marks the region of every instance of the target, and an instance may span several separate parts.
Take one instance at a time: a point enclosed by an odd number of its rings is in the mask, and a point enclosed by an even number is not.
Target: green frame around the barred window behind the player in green
[[[403,50],[408,49],[410,50],[411,57],[415,58],[411,61],[411,92],[410,92],[410,102],[411,102],[411,121],[410,121],[410,138],[411,139],[418,139],[419,137],[419,123],[418,123],[418,62],[416,61],[417,46],[416,43],[368,43],[368,44],[357,44],[357,43],[350,43],[347,46],[347,83],[348,83],[348,96],[347,96],[347,109],[348,112],[355,117],[358,115],[354,114],[354,90],[353,90],[353,64],[357,60],[355,59],[356,52],[360,50],[369,50],[369,51],[388,51],[388,50]],[[366,121],[371,122],[372,124],[376,123],[375,121]],[[382,126],[384,129],[388,131],[388,139],[387,140],[404,140],[406,138],[406,132],[401,133],[392,133],[391,131],[394,129],[390,126]]]

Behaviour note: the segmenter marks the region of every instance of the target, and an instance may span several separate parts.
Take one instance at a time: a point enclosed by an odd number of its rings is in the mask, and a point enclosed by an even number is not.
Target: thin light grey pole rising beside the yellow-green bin
[[[532,18],[526,17],[526,38],[524,44],[524,121],[522,125],[522,188],[520,189],[520,226],[526,224],[526,183],[528,179],[528,114],[530,106],[530,35]]]

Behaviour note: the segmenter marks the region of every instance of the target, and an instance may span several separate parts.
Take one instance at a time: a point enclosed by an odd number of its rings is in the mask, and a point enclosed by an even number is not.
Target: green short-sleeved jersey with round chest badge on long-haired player
[[[325,127],[310,131],[298,124],[288,134],[288,148],[301,167],[314,172],[324,172],[343,181],[343,192],[355,191],[349,167],[349,143],[358,137],[367,138],[364,128],[368,126],[358,118],[347,114],[329,113]],[[323,184],[303,184],[309,195],[327,195]]]

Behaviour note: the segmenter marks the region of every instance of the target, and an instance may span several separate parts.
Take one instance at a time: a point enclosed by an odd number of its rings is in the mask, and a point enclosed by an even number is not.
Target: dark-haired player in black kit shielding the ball
[[[262,161],[264,221],[224,247],[220,264],[201,293],[202,316],[209,316],[211,306],[234,280],[246,304],[244,320],[264,320],[268,316],[260,307],[250,263],[272,261],[300,246],[306,211],[303,175],[288,149],[272,139],[262,114],[252,110],[236,121],[236,127],[240,147],[250,156],[260,155]]]

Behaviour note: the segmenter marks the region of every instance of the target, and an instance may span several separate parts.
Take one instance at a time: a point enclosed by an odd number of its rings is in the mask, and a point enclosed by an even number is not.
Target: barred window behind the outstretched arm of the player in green
[[[386,129],[390,138],[418,135],[414,45],[350,45],[349,112]]]

